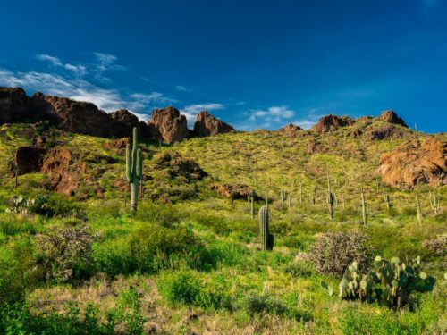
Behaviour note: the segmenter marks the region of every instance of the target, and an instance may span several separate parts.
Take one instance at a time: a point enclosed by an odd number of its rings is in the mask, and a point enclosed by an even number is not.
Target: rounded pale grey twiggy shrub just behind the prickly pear
[[[374,251],[367,246],[368,240],[367,235],[358,232],[327,232],[312,245],[309,258],[318,273],[342,276],[354,261],[359,271],[365,272]]]

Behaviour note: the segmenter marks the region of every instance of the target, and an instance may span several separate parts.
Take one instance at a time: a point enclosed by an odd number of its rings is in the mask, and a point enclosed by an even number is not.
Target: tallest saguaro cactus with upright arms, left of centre
[[[133,129],[133,146],[126,147],[126,177],[131,184],[131,210],[137,211],[139,180],[143,176],[143,156],[139,147],[138,130]]]

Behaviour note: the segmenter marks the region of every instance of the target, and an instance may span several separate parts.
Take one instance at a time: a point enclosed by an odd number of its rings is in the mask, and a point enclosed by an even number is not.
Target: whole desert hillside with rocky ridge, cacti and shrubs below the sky
[[[0,333],[442,333],[446,143],[0,88]]]

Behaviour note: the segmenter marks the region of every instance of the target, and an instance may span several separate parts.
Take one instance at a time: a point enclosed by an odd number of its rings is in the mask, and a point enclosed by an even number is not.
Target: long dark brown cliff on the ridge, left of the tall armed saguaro
[[[129,136],[129,128],[96,105],[74,101],[65,97],[34,94],[33,98],[46,103],[46,110],[53,110],[59,119],[59,128],[98,137],[122,138]]]

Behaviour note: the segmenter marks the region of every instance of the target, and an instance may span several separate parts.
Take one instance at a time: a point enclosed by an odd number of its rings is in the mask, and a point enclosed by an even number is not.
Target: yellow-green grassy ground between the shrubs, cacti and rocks
[[[18,137],[23,126],[3,126],[0,136],[0,172],[7,171],[15,147],[27,144]],[[88,213],[92,230],[99,231],[102,239],[95,250],[98,255],[108,252],[120,253],[125,249],[127,237],[151,222],[151,201],[149,193],[171,193],[179,199],[169,207],[170,213],[180,221],[179,227],[188,227],[203,239],[209,249],[218,255],[217,264],[207,271],[185,270],[198,276],[208,289],[223,292],[230,297],[233,312],[215,307],[172,307],[166,304],[156,289],[156,283],[164,279],[164,271],[152,274],[126,273],[115,277],[112,283],[104,276],[85,282],[80,287],[69,285],[50,286],[29,292],[28,300],[36,311],[61,310],[64,301],[80,301],[85,306],[92,301],[100,310],[104,320],[108,308],[118,306],[120,299],[131,285],[139,288],[139,313],[148,319],[146,329],[155,327],[157,331],[187,333],[342,333],[356,331],[358,324],[377,327],[386,332],[407,329],[420,331],[441,331],[445,328],[446,285],[443,281],[444,260],[432,255],[422,246],[425,239],[445,233],[445,210],[434,216],[428,202],[429,188],[413,191],[399,191],[380,185],[376,189],[375,169],[378,157],[384,151],[401,145],[403,140],[367,141],[345,136],[350,127],[330,135],[309,135],[297,138],[273,133],[233,133],[214,138],[193,138],[173,147],[157,147],[143,144],[155,155],[158,152],[179,152],[185,158],[196,161],[210,178],[187,186],[181,180],[169,180],[164,172],[156,169],[154,159],[145,160],[145,173],[152,180],[144,182],[147,193],[140,201],[139,216],[132,217],[124,208],[125,194],[112,187],[114,180],[123,177],[124,157],[116,150],[105,150],[104,138],[60,134],[66,147],[81,151],[95,162],[97,155],[111,155],[117,163],[89,163],[92,172],[105,169],[99,176],[99,184],[105,188],[105,197],[90,197],[87,201],[66,199]],[[327,149],[325,154],[306,154],[308,138],[318,139]],[[420,140],[426,135],[417,134]],[[446,136],[443,135],[443,139]],[[325,204],[326,171],[330,172],[333,190],[339,200],[335,206],[335,217],[331,221]],[[0,211],[4,211],[8,199],[13,194],[45,193],[40,181],[45,179],[38,173],[21,176],[20,187],[13,189],[13,179],[4,178],[0,188]],[[294,180],[294,181],[293,181]],[[238,200],[234,207],[228,199],[216,196],[209,187],[215,182],[238,182],[250,185],[257,194],[264,197],[266,192],[270,205],[271,230],[275,236],[273,252],[262,252],[257,247],[257,220],[251,220],[247,201]],[[303,198],[299,205],[299,183],[302,183]],[[316,205],[309,205],[312,189],[317,184]],[[368,204],[368,226],[363,227],[359,210],[359,188],[364,186]],[[89,186],[84,186],[89,193]],[[280,190],[291,192],[291,208],[283,209],[279,198]],[[445,199],[447,188],[436,190]],[[180,194],[180,196],[179,196]],[[181,200],[181,195],[195,195]],[[388,214],[384,206],[384,194],[389,194],[395,210]],[[426,214],[422,227],[417,225],[415,195],[422,201]],[[185,196],[187,197],[187,196]],[[342,199],[344,198],[344,208]],[[399,205],[398,205],[399,204]],[[256,208],[263,205],[258,202]],[[164,205],[160,205],[163,207]],[[146,214],[145,214],[145,211]],[[62,225],[69,218],[43,219],[25,218],[21,215],[0,214],[1,255],[8,256],[13,243],[23,236],[34,235],[53,224]],[[13,228],[12,228],[13,226]],[[421,255],[426,262],[426,271],[434,273],[438,284],[430,298],[424,297],[421,310],[393,314],[387,308],[361,305],[358,314],[353,314],[350,304],[340,302],[338,297],[327,297],[320,287],[325,280],[337,286],[337,279],[315,274],[297,268],[297,259],[308,251],[318,233],[326,230],[362,230],[371,238],[378,255],[406,256]],[[172,271],[188,268],[179,261]],[[160,277],[161,276],[161,277]],[[161,279],[160,279],[161,278]],[[244,298],[251,291],[266,293],[273,299],[282,301],[293,311],[278,316],[266,314],[250,317],[242,307]],[[191,317],[197,314],[198,317]],[[356,323],[356,319],[359,322]],[[123,327],[119,325],[118,327]],[[381,328],[382,327],[382,328]],[[390,328],[391,327],[391,328]],[[393,328],[394,327],[394,328]],[[375,333],[378,333],[376,331]]]

